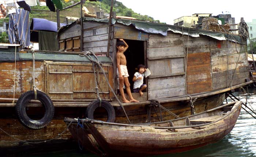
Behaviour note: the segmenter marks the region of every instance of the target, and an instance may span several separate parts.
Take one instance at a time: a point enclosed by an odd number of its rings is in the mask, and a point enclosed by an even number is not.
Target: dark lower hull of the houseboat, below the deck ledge
[[[195,111],[196,113],[203,112],[208,109],[215,108],[220,106],[222,102],[225,100],[225,94],[217,94],[214,96],[208,96],[200,98],[195,102]],[[75,105],[75,104],[74,104]],[[169,109],[171,112],[175,113],[180,117],[186,117],[191,115],[191,108],[188,101],[178,101],[178,102],[166,102],[162,103],[166,109]],[[127,123],[127,118],[124,115],[123,110],[120,109],[118,106],[114,106],[116,112],[116,121],[118,123]],[[133,124],[135,123],[145,123],[148,122],[149,117],[147,113],[147,105],[129,105],[125,106],[125,110],[128,114],[129,119]],[[30,107],[30,112],[37,111],[38,107]],[[33,111],[34,110],[34,111]],[[67,127],[65,122],[63,122],[64,117],[71,117],[71,118],[85,118],[86,107],[56,107],[55,108],[55,116],[50,122],[48,126],[40,130],[31,130],[25,128],[20,122],[18,121],[17,117],[14,114],[14,108],[10,107],[2,107],[0,110],[1,118],[0,118],[0,128],[6,131],[7,133],[19,138],[20,140],[26,140],[30,142],[39,142],[50,140],[54,137],[57,137],[59,133],[63,132],[63,130]],[[159,109],[157,109],[158,116],[155,111],[152,109],[150,113],[150,121],[157,122],[159,121]],[[37,112],[34,112],[37,113]],[[96,113],[97,117],[97,113]],[[98,120],[106,120],[107,115],[103,114],[102,112],[98,112]],[[162,118],[163,120],[170,120],[174,119],[172,115],[162,110]],[[29,132],[29,133],[28,133]],[[11,148],[11,147],[18,147],[25,144],[25,142],[18,141],[3,131],[0,131],[0,148]],[[60,137],[56,138],[56,143],[63,140],[73,140],[73,137],[69,130],[67,130],[64,134]],[[48,143],[45,143],[48,145]],[[33,147],[33,144],[26,144],[26,147]]]

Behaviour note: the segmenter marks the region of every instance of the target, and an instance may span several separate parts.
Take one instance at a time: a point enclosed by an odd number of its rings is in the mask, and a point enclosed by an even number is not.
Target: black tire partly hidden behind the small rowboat
[[[86,114],[85,114],[86,117],[89,119],[93,119],[94,111],[98,107],[99,107],[99,100],[95,100],[95,101],[91,102],[91,104],[86,109]],[[101,107],[105,108],[108,112],[107,122],[114,122],[116,119],[116,113],[115,113],[113,106],[108,101],[102,100]]]

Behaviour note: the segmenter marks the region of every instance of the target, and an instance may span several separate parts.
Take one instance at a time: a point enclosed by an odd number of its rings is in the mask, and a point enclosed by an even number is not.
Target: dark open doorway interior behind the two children
[[[128,49],[124,52],[124,55],[127,60],[127,69],[129,73],[129,82],[131,84],[131,92],[133,92],[133,81],[132,78],[134,76],[134,73],[137,72],[137,66],[139,64],[145,65],[144,60],[144,41],[139,40],[126,40],[125,42],[128,44]],[[146,80],[144,78],[144,84],[146,84]]]

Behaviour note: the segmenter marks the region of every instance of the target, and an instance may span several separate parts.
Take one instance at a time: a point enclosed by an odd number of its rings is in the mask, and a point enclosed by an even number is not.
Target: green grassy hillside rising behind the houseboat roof
[[[66,2],[67,1],[67,2]],[[72,5],[76,2],[79,2],[79,0],[62,0],[63,8],[67,7],[69,5]],[[111,0],[102,0],[101,1],[101,9],[104,13],[110,12],[110,5]],[[86,3],[83,4],[83,6],[86,6],[90,13],[96,14],[96,12],[100,11],[100,5],[99,1],[97,2],[90,2],[89,0],[86,1]],[[40,9],[40,10],[47,10],[47,11],[31,11],[30,18],[44,18],[50,21],[57,21],[56,12],[50,12],[49,8],[46,6],[33,6],[31,9]],[[140,15],[139,13],[135,13],[132,11],[132,9],[129,9],[125,7],[121,2],[114,0],[114,7],[113,11],[117,12],[117,16],[129,16],[134,17],[139,20],[146,20],[146,21],[158,21],[154,20],[153,17],[147,16],[147,15]],[[72,17],[80,17],[80,5],[77,5],[75,7],[66,9],[64,11],[60,11],[60,22],[65,22],[66,16],[72,16]],[[4,21],[8,21],[8,18],[4,19]],[[69,20],[70,21],[70,20]],[[158,21],[159,22],[159,21]]]

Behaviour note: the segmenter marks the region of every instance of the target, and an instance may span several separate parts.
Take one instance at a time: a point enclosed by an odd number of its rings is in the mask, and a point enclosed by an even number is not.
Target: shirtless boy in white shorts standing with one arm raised
[[[116,53],[116,62],[117,62],[117,75],[119,76],[119,90],[123,99],[123,102],[139,102],[132,97],[130,83],[128,80],[128,71],[126,67],[126,58],[124,52],[127,50],[128,45],[123,39],[119,39],[116,43],[117,53]],[[126,92],[129,96],[130,101],[128,101],[124,96],[124,86],[126,87]]]

